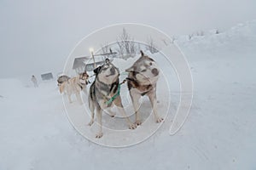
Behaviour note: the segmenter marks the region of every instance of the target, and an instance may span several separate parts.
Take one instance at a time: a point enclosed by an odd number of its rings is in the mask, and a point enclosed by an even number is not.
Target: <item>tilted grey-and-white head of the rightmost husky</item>
[[[154,59],[144,55],[141,51],[141,57],[125,71],[131,72],[132,76],[141,83],[154,83],[158,80],[160,69]]]

